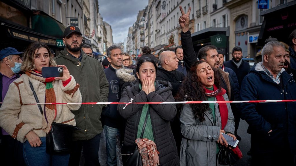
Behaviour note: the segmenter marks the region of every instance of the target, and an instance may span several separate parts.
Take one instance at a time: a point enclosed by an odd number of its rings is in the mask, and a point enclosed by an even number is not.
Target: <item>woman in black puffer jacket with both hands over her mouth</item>
[[[120,102],[174,102],[171,84],[155,80],[156,71],[157,67],[152,59],[141,58],[136,68],[138,79],[123,90]],[[126,119],[124,146],[136,144],[149,111],[143,138],[156,144],[160,165],[180,165],[176,142],[170,128],[170,121],[177,113],[175,104],[119,104],[117,109]]]

